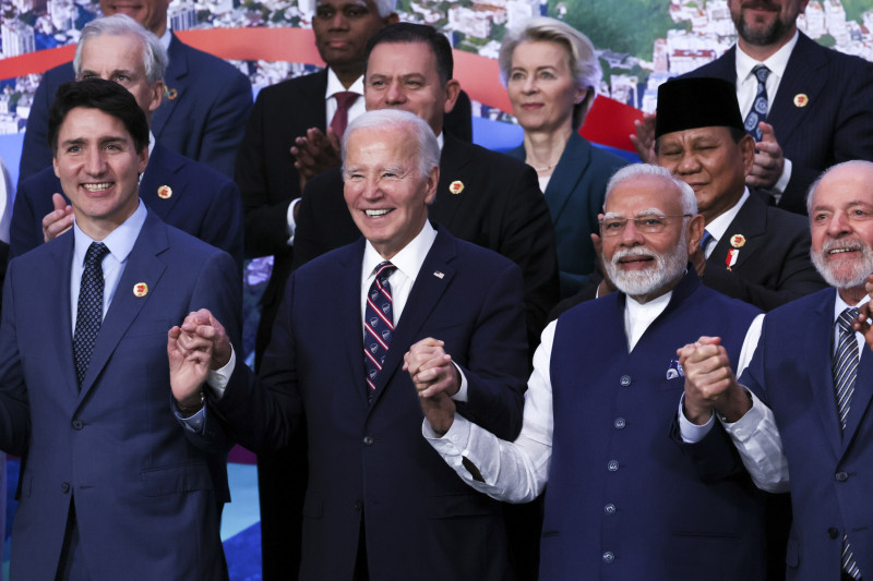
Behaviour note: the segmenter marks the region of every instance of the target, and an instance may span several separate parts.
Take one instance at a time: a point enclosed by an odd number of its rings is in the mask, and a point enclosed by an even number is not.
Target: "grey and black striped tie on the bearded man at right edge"
[[[839,414],[840,432],[846,431],[846,417],[854,394],[854,380],[858,376],[858,362],[860,360],[858,341],[852,329],[852,319],[858,316],[857,308],[847,308],[839,314],[837,327],[839,327],[839,339],[837,350],[832,361],[834,372],[834,389],[837,397],[837,413]],[[860,579],[861,571],[854,559],[848,535],[842,535],[842,570],[852,579]]]

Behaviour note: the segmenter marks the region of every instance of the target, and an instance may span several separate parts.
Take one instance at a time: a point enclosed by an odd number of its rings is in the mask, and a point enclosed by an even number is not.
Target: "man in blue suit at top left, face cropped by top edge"
[[[167,29],[169,0],[100,0],[104,16],[127,14],[160,39],[169,55],[164,77],[166,99],[152,118],[152,133],[177,154],[232,177],[246,120],[252,107],[249,80],[217,57],[192,48]],[[46,141],[48,110],[61,83],[75,78],[73,63],[45,73],[34,95],[19,183],[51,164]]]

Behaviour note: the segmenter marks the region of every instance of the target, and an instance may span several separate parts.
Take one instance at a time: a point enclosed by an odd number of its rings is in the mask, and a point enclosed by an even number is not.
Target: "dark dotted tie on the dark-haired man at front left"
[[[92,242],[85,253],[85,269],[82,271],[82,285],[79,288],[79,305],[75,315],[75,332],[73,334],[73,359],[79,386],[85,379],[91,354],[103,322],[103,259],[109,249],[103,242]]]

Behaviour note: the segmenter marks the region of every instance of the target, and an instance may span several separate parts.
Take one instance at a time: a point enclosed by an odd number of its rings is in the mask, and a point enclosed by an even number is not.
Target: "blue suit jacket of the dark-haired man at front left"
[[[95,579],[226,578],[219,535],[229,500],[226,440],[208,416],[198,436],[177,422],[167,331],[190,311],[210,308],[227,317],[228,334],[238,339],[236,265],[150,213],[80,390],[73,239],[68,232],[13,258],[5,280],[0,447],[24,457],[10,574],[55,578],[74,499]]]

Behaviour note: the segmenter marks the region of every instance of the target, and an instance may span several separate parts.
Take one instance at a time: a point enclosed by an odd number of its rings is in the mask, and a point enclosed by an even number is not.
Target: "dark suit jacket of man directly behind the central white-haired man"
[[[533,168],[444,134],[436,197],[428,213],[454,237],[490,249],[522,268],[531,352],[558,302],[554,227]],[[360,237],[338,169],[307,184],[295,235],[295,265]]]

